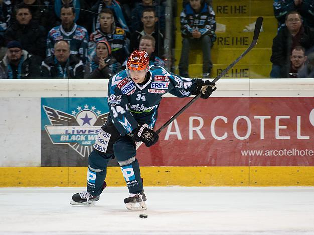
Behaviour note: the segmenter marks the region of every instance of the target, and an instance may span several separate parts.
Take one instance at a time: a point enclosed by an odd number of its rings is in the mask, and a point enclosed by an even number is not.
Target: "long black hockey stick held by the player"
[[[258,36],[260,33],[260,29],[263,24],[263,17],[258,17],[255,22],[255,29],[254,29],[254,35],[253,40],[249,47],[238,57],[236,60],[234,60],[225,70],[223,70],[212,82],[216,83],[221,77],[223,77],[235,64],[237,64],[248,52],[251,51],[251,49],[254,48],[254,46],[257,44]],[[183,106],[173,117],[171,117],[165,124],[163,124],[158,130],[156,130],[156,134],[160,134],[160,132],[165,129],[171,122],[173,122],[184,110],[186,110],[188,107],[192,105],[198,98],[201,97],[201,93],[196,95],[193,99],[190,100],[185,106]],[[142,142],[138,142],[136,144],[136,149],[139,148],[139,146],[142,144]]]

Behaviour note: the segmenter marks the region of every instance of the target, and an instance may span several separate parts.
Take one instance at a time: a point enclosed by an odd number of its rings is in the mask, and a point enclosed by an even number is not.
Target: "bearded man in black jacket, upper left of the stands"
[[[29,6],[21,3],[16,7],[17,22],[13,23],[5,32],[6,43],[19,41],[24,50],[32,55],[45,58],[46,33],[43,26],[32,20]]]

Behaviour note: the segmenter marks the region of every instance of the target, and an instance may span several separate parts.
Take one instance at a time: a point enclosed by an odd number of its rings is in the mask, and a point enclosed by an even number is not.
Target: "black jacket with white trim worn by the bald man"
[[[84,78],[84,64],[75,55],[70,55],[66,64],[67,77],[66,78]],[[58,75],[58,62],[55,62],[55,56],[47,57],[41,65],[41,74],[44,78],[63,79]]]

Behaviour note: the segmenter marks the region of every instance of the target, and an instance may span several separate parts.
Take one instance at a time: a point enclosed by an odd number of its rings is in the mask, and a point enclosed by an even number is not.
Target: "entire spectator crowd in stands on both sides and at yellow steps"
[[[135,50],[164,66],[166,0],[0,0],[0,79],[110,78]],[[203,52],[211,77],[216,40],[212,0],[183,0],[179,74],[190,49]],[[314,73],[314,0],[273,0],[278,20],[271,78]]]

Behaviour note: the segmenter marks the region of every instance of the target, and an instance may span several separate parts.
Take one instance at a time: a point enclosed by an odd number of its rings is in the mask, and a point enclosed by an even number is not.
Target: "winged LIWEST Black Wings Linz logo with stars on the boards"
[[[108,119],[109,112],[95,113],[95,107],[88,109],[78,107],[78,113],[72,114],[43,106],[51,125],[46,125],[45,130],[53,144],[68,144],[82,157],[88,156],[93,150],[101,126]],[[97,115],[98,114],[98,115]]]

